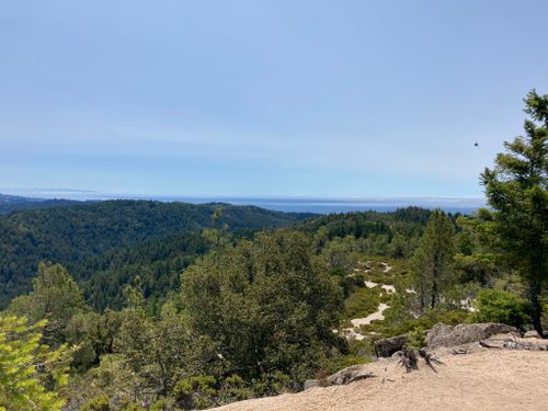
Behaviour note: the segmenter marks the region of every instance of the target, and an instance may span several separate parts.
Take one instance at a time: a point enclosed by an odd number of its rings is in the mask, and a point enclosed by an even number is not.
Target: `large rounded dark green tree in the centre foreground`
[[[331,330],[342,293],[305,235],[260,233],[193,265],[182,281],[191,327],[217,344],[226,373],[282,372],[302,383],[341,344]]]

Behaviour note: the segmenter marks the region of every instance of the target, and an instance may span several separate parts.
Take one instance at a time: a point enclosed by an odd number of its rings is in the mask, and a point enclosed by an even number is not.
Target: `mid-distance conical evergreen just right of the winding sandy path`
[[[421,311],[434,308],[449,283],[454,235],[455,228],[447,215],[434,210],[411,261]]]

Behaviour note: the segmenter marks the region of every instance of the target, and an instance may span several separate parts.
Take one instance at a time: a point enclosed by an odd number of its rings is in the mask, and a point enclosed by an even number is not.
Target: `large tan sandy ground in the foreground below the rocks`
[[[395,361],[369,364],[377,377],[347,386],[236,402],[222,411],[548,410],[548,353],[490,350],[447,354],[434,373],[407,374]]]

